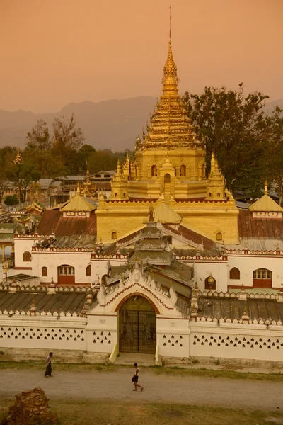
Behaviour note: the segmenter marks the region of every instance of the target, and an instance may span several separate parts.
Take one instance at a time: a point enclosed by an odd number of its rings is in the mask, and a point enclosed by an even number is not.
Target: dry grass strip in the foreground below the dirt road
[[[279,412],[258,412],[187,404],[93,402],[93,400],[50,400],[52,412],[62,425],[267,425],[283,424]],[[5,412],[0,411],[0,420]]]

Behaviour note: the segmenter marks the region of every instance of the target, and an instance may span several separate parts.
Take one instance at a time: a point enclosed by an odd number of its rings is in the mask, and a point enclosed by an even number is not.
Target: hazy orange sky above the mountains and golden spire
[[[0,109],[159,96],[169,4],[181,92],[283,98],[283,0],[0,0]]]

